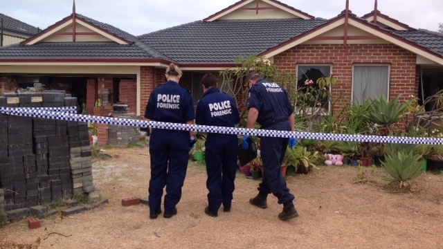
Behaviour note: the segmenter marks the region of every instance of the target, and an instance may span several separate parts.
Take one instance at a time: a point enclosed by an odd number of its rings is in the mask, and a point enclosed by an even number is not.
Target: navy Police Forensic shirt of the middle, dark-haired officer
[[[235,127],[240,116],[234,99],[219,89],[211,87],[197,103],[196,124],[218,127]],[[224,135],[226,136],[226,135]]]

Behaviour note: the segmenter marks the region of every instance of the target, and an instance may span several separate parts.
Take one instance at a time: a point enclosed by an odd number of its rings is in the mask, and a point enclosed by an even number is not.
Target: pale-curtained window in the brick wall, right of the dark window
[[[388,98],[388,65],[354,65],[352,75],[352,101],[363,103],[384,95]]]

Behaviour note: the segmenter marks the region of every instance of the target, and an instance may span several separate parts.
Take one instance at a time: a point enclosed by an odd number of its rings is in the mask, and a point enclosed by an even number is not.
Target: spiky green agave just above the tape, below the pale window
[[[395,124],[403,118],[406,107],[408,107],[406,102],[400,104],[399,98],[400,95],[397,95],[393,100],[388,101],[384,95],[381,95],[380,98],[372,99],[371,108],[363,114],[363,117],[374,124],[389,129],[390,124]]]

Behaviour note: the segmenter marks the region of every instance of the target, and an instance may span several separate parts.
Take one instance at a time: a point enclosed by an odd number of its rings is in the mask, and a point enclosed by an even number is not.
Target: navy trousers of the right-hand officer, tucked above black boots
[[[291,131],[291,124],[289,124],[289,121],[280,122],[267,129]],[[262,157],[264,174],[258,190],[266,194],[272,193],[278,198],[279,204],[295,199],[293,194],[289,192],[280,169],[288,142],[289,138],[260,138],[260,155]]]

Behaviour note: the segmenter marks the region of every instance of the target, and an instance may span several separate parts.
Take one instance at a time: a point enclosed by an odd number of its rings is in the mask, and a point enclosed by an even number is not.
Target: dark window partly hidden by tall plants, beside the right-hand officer
[[[322,107],[323,109],[329,110],[329,98],[322,97],[318,98],[318,85],[317,80],[321,77],[331,76],[332,66],[329,65],[298,65],[297,68],[297,89],[298,97],[297,106],[305,109],[309,107]],[[311,80],[313,84],[307,85],[305,82]],[[330,87],[325,89],[327,94],[325,96],[330,96]],[[309,94],[314,93],[317,95],[315,100],[308,100]],[[323,92],[325,93],[325,92]],[[322,93],[322,94],[323,94]]]

